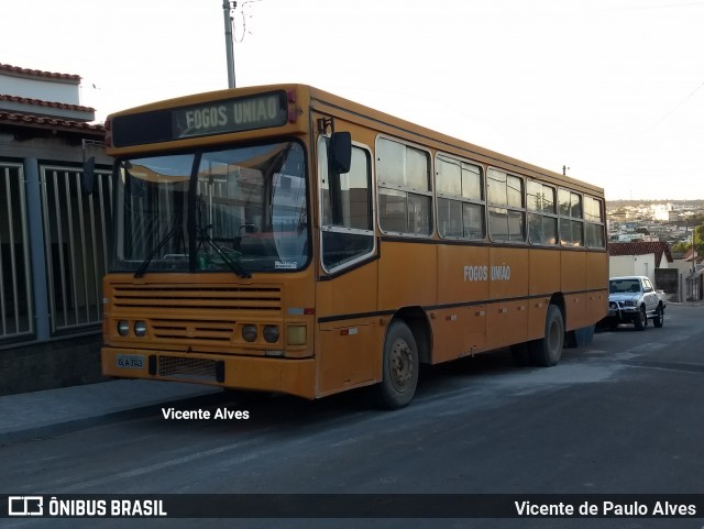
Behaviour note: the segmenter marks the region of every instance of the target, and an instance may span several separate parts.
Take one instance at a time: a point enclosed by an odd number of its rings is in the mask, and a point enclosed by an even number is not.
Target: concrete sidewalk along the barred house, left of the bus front
[[[120,379],[6,395],[0,397],[0,443],[61,432],[62,425],[220,392],[199,384]]]

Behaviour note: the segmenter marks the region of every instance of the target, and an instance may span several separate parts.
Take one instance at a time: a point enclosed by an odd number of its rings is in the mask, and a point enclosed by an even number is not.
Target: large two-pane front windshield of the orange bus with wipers
[[[296,142],[118,163],[113,272],[300,269],[307,176]]]

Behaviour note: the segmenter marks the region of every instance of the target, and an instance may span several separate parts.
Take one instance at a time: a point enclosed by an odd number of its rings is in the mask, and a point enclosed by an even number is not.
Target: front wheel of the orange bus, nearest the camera
[[[384,409],[408,405],[416,394],[419,367],[414,333],[403,321],[392,321],[384,340],[382,382],[374,387],[374,404]]]

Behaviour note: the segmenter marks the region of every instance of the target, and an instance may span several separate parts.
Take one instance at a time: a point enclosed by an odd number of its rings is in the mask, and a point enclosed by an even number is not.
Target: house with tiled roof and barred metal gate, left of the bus
[[[111,161],[80,77],[0,64],[0,395],[95,382]]]

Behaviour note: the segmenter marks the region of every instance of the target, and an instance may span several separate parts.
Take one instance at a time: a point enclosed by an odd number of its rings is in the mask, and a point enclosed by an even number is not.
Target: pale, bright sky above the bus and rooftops
[[[80,75],[99,119],[227,87],[222,0],[12,2],[3,22],[0,62]],[[704,0],[240,0],[234,22],[238,86],[318,86],[609,199],[704,199]]]

